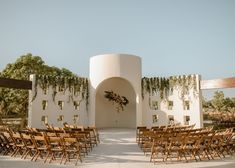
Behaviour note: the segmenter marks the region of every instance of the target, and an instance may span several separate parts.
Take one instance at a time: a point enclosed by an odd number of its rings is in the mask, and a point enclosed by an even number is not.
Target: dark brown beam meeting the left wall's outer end
[[[0,77],[0,87],[14,88],[14,89],[32,89],[32,81],[17,80]]]

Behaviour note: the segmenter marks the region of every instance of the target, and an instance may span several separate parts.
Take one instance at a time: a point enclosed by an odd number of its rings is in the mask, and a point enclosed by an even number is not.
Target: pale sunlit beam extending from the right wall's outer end
[[[222,88],[234,88],[234,87],[235,87],[235,77],[202,80],[200,83],[201,89],[222,89]]]

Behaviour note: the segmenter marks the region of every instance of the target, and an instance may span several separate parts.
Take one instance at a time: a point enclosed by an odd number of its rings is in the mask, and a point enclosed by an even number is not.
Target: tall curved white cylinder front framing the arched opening
[[[104,80],[120,77],[127,80],[136,94],[136,125],[142,125],[141,58],[127,54],[105,54],[90,58],[89,124],[95,125],[96,89]]]

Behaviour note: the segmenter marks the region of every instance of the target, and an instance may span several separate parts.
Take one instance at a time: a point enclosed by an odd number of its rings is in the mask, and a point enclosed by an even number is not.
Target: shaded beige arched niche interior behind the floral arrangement
[[[105,91],[125,96],[129,103],[123,111],[117,111],[116,104],[105,98]],[[113,77],[104,80],[96,89],[95,125],[97,128],[135,128],[136,127],[136,93],[125,79]]]

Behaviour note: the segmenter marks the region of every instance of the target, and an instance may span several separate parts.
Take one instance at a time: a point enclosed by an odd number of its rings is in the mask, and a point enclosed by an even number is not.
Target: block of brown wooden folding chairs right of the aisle
[[[139,131],[138,145],[150,161],[202,160],[225,157],[235,152],[233,129],[213,131],[212,128],[183,129],[167,132],[143,129]]]

